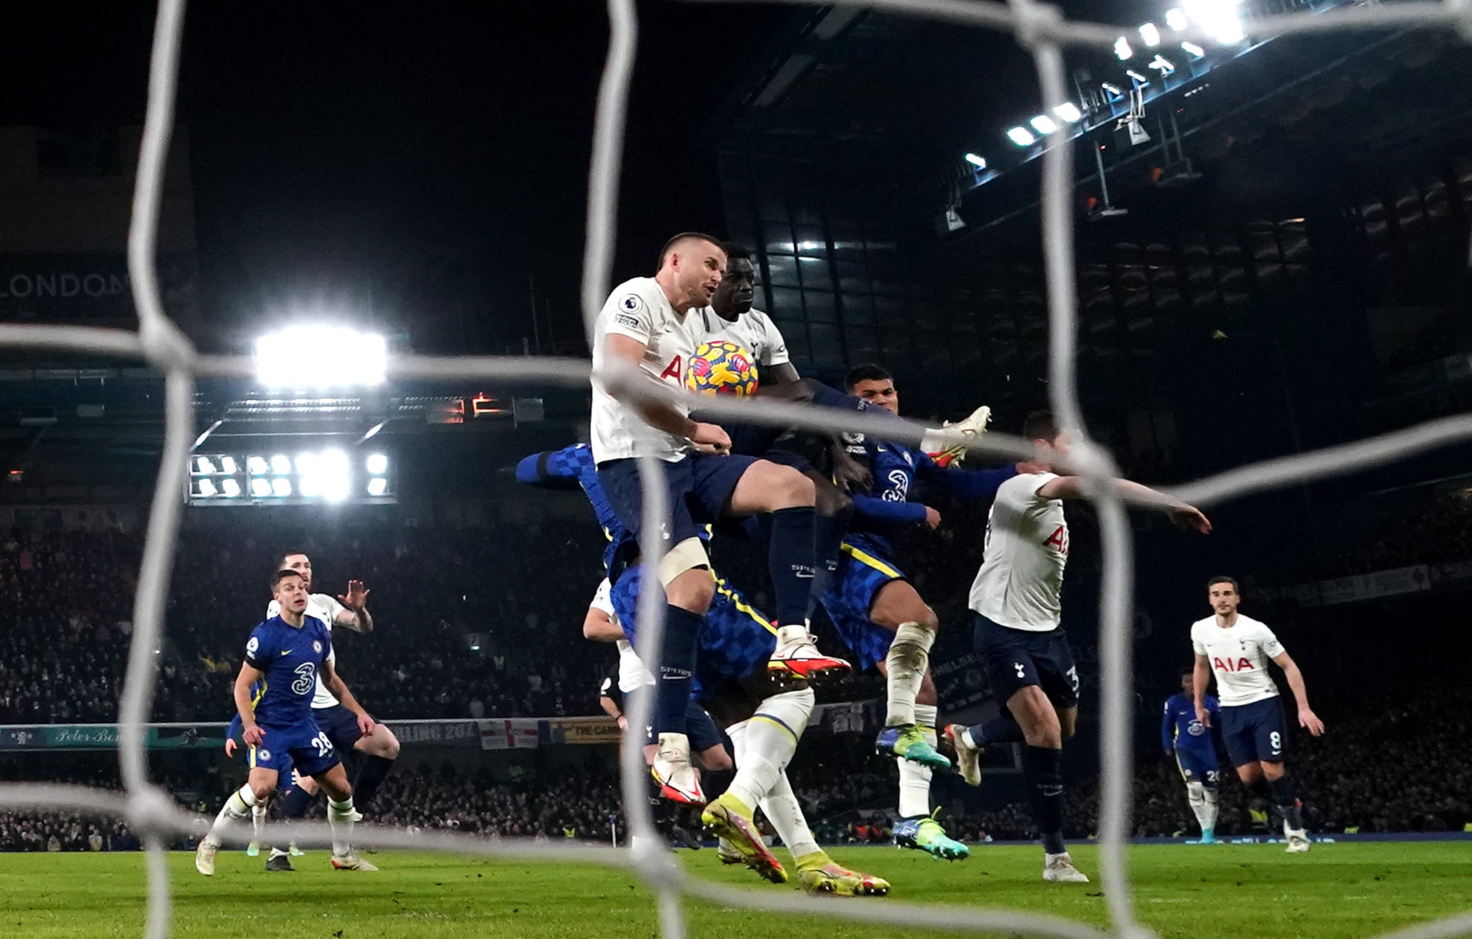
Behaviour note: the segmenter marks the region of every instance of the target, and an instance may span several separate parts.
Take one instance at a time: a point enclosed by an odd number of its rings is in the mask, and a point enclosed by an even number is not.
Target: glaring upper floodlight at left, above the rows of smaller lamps
[[[383,384],[389,344],[347,327],[293,325],[256,340],[256,377],[268,389]]]

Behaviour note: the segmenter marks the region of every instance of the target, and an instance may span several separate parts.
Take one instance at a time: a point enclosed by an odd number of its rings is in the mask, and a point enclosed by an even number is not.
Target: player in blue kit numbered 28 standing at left
[[[250,748],[250,777],[233,793],[215,824],[194,854],[194,868],[205,876],[215,873],[215,852],[228,830],[244,821],[250,809],[271,798],[284,768],[294,764],[327,792],[327,821],[333,829],[333,867],[337,870],[375,870],[352,848],[353,790],[333,742],[312,718],[312,692],[321,673],[324,684],[358,718],[364,734],[374,731],[374,720],[337,676],[328,653],[333,648],[327,624],[306,611],[306,583],[296,571],[277,571],[271,595],[281,605],[280,615],[261,623],[246,643],[246,661],[236,676],[236,709],[244,726],[241,734]],[[259,683],[259,701],[252,687]]]

